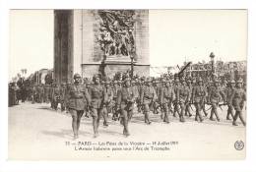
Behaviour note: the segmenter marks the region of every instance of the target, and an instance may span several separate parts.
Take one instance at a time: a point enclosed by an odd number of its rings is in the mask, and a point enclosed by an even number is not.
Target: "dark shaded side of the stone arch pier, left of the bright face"
[[[73,11],[54,11],[54,82],[73,81]]]

